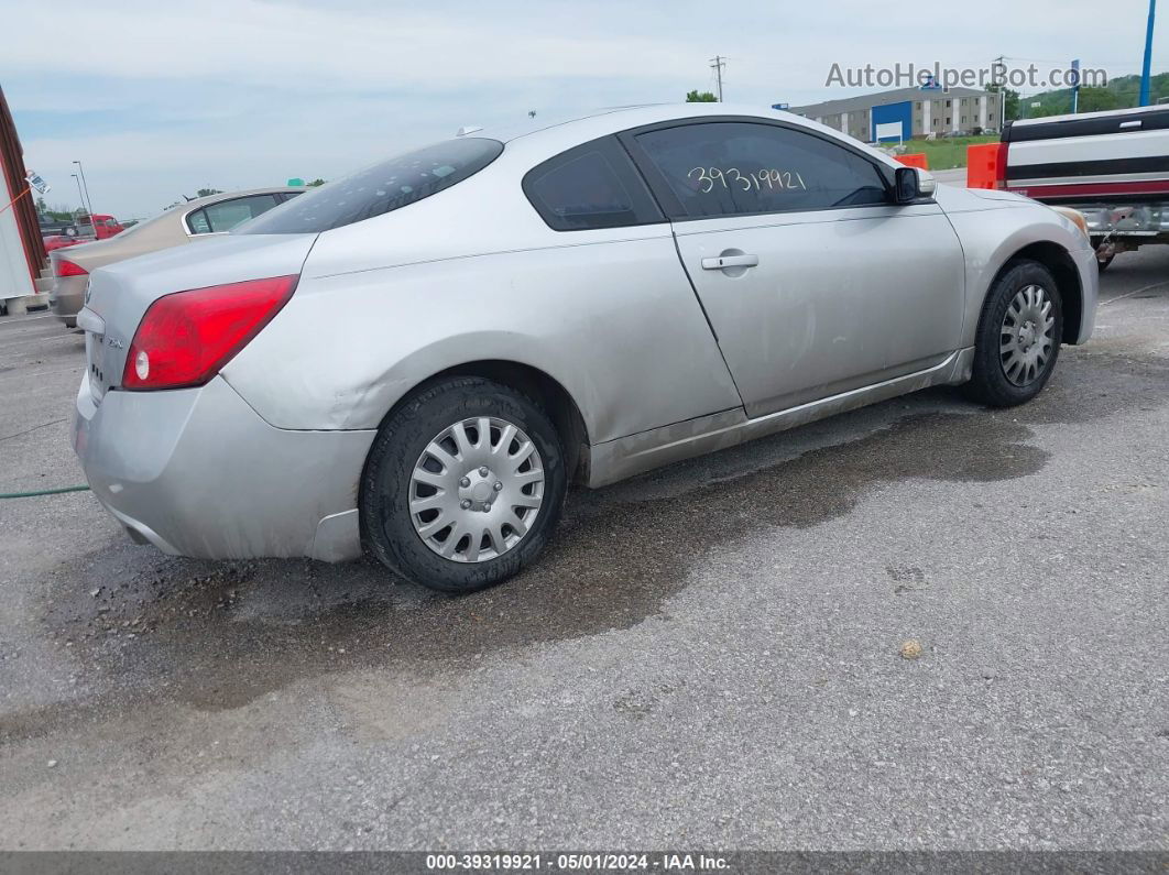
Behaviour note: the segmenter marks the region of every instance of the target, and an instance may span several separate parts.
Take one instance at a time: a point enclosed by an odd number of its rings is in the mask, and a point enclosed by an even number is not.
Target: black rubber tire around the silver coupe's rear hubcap
[[[458,562],[438,555],[415,530],[409,509],[411,477],[437,435],[455,423],[484,416],[512,423],[528,436],[544,468],[544,493],[534,522],[514,546],[483,562]],[[544,550],[560,519],[566,491],[560,438],[540,405],[490,380],[452,377],[407,398],[379,430],[361,478],[362,540],[402,577],[442,592],[473,592],[517,575]]]

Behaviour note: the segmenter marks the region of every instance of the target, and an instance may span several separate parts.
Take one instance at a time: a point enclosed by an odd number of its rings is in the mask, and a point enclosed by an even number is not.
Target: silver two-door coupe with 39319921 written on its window
[[[1097,283],[1078,214],[783,112],[464,129],[94,272],[74,444],[167,553],[365,547],[465,592],[537,557],[569,482],[929,386],[1029,401]]]

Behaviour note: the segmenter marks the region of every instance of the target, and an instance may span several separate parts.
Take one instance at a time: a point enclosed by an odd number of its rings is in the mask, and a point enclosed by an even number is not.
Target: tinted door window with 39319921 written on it
[[[876,164],[790,127],[715,121],[648,131],[636,140],[680,203],[679,218],[888,202]]]

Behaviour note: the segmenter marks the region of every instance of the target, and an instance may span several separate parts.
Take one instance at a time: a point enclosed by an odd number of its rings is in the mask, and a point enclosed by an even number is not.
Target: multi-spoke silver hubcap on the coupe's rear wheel
[[[455,562],[486,562],[532,528],[544,500],[544,463],[518,426],[463,419],[427,444],[410,477],[410,521],[422,542]]]

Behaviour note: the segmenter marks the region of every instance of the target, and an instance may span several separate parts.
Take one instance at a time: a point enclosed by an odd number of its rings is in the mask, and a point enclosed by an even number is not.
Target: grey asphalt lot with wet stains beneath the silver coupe
[[[574,492],[464,598],[0,501],[0,847],[1169,849],[1169,250],[1102,286],[1029,407]],[[0,492],[83,481],[83,369],[0,318]]]

